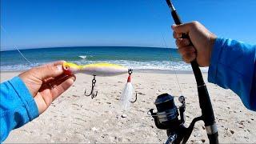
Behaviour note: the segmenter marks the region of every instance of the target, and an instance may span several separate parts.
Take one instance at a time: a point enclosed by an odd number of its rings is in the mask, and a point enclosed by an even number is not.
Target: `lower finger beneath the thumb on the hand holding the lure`
[[[75,76],[66,76],[65,78],[61,78],[58,81],[52,83],[53,89],[51,90],[53,101],[54,99],[58,98],[64,91],[66,91],[75,81]]]

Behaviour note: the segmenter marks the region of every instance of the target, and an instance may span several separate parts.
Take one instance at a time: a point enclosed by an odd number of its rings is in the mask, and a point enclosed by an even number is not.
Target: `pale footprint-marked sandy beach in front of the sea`
[[[1,82],[20,72],[1,72]],[[197,88],[193,74],[177,74],[186,97],[186,124],[201,114]],[[205,80],[207,74],[203,74]],[[155,109],[154,101],[159,94],[181,95],[175,74],[154,71],[133,74],[134,90],[138,101],[129,111],[122,111],[118,99],[126,84],[127,75],[97,77],[98,96],[84,96],[90,90],[92,77],[78,74],[74,85],[57,98],[48,110],[34,121],[13,130],[6,143],[25,142],[82,142],[82,143],[162,143],[166,130],[158,130],[148,110]],[[230,90],[206,82],[214,107],[221,143],[255,143],[256,113],[247,110],[240,98]],[[126,114],[126,118],[122,118]],[[198,122],[188,142],[208,142],[203,122]]]

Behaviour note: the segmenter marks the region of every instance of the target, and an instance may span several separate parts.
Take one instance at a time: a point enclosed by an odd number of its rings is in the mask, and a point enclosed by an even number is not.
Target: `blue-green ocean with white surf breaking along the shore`
[[[33,66],[58,60],[79,65],[110,62],[134,70],[191,70],[182,62],[177,49],[126,46],[58,47],[20,50],[32,64],[27,62],[18,50],[1,51],[1,70],[28,70]]]

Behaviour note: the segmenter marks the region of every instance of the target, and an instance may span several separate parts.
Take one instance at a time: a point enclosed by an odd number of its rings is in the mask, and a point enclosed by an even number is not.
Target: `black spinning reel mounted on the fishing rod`
[[[149,111],[154,118],[155,126],[158,129],[166,130],[168,136],[166,143],[186,143],[194,129],[194,123],[202,120],[202,116],[194,118],[190,126],[185,127],[185,98],[180,96],[178,101],[182,103],[182,106],[177,108],[173,96],[170,94],[161,94],[154,102],[158,112],[154,113],[154,109]],[[180,115],[180,119],[178,119],[178,115]]]

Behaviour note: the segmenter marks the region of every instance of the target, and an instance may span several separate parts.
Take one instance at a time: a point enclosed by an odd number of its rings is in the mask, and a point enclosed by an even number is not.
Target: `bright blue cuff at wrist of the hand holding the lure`
[[[38,106],[22,79],[19,77],[14,77],[9,82],[18,94],[18,98],[21,99],[22,103],[26,107],[26,112],[30,117],[30,121],[37,118],[39,115]]]

